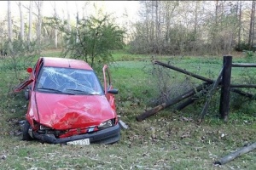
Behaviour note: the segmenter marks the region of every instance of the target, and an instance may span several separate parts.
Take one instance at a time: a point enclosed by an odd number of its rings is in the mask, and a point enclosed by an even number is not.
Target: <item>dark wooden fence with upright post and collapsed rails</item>
[[[220,95],[220,103],[219,103],[219,113],[222,119],[226,122],[228,120],[229,115],[229,108],[230,108],[230,92],[234,92],[236,94],[241,94],[242,96],[248,97],[250,99],[254,99],[253,94],[249,94],[246,92],[241,91],[237,88],[256,88],[256,84],[231,84],[231,71],[232,67],[256,67],[256,64],[246,64],[246,63],[232,63],[232,56],[224,56],[223,58],[223,68],[220,71],[218,78],[216,81],[209,79],[207,77],[201,77],[199,75],[196,75],[195,73],[185,71],[183,69],[177,68],[173,65],[167,65],[165,63],[162,63],[158,60],[153,61],[156,65],[162,65],[166,68],[172,69],[174,71],[181,72],[183,74],[189,75],[190,77],[195,77],[201,81],[204,81],[205,83],[201,84],[197,88],[190,89],[188,92],[178,96],[175,99],[170,99],[166,101],[165,103],[161,105],[155,106],[153,109],[149,111],[143,112],[141,115],[137,116],[137,121],[141,122],[145,118],[149,116],[153,116],[155,113],[162,111],[166,107],[169,107],[171,105],[175,105],[178,102],[187,99],[183,104],[177,105],[176,109],[177,111],[182,110],[188,105],[191,105],[195,102],[198,98],[199,94],[209,94],[206,104],[204,105],[204,108],[201,112],[201,120],[207,113],[207,108],[209,105],[209,102],[212,98],[212,94],[218,89],[221,88],[221,95]],[[212,89],[209,89],[212,87]],[[200,120],[200,122],[201,122]]]

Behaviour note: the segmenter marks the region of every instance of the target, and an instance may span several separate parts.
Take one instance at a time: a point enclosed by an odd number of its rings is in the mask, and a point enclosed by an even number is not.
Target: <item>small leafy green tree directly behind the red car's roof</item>
[[[77,26],[68,30],[65,22],[61,24],[60,20],[49,18],[49,25],[65,33],[61,55],[84,59],[91,66],[113,61],[112,51],[123,48],[125,31],[114,24],[109,14],[77,21]]]

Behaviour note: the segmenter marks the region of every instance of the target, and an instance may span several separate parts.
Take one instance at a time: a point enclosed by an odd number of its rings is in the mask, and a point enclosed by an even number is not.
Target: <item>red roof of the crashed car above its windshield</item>
[[[88,63],[79,59],[55,58],[55,57],[42,57],[44,66],[54,66],[63,68],[75,68],[84,70],[93,70]]]

